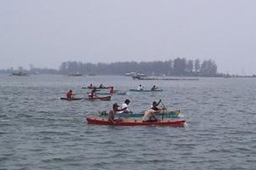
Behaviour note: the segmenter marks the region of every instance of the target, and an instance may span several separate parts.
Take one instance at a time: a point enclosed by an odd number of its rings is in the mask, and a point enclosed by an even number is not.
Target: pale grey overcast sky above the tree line
[[[213,59],[256,74],[256,0],[0,0],[0,68]]]

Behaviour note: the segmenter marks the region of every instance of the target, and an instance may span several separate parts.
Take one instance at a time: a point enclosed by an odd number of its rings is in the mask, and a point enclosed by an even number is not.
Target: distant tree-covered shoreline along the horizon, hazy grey
[[[186,60],[186,58],[175,58],[168,61],[153,62],[114,62],[106,63],[82,63],[76,61],[62,62],[59,69],[34,68],[30,70],[19,67],[18,70],[2,69],[0,73],[13,72],[44,73],[44,74],[65,74],[65,75],[127,75],[136,73],[146,76],[184,76],[184,77],[242,77],[240,75],[229,75],[218,73],[215,61],[198,59]],[[78,74],[79,73],[79,74]],[[256,77],[255,75],[246,77]]]

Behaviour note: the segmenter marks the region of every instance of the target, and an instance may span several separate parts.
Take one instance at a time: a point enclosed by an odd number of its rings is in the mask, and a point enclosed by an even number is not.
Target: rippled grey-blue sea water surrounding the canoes
[[[90,83],[128,91],[142,84],[163,92],[128,92],[111,101],[62,101]],[[180,109],[184,128],[87,124],[87,115],[130,99],[143,112],[162,99]],[[145,81],[124,76],[0,74],[1,170],[256,169],[256,79]]]

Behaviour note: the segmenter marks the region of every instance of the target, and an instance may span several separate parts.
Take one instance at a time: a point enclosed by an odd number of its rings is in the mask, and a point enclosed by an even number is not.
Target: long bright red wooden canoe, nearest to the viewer
[[[100,124],[100,125],[113,125],[108,122],[108,119],[104,118],[86,118],[89,124]],[[142,122],[142,120],[120,120],[116,123],[116,126],[151,126],[151,125],[161,125],[161,126],[174,126],[174,127],[184,127],[185,120],[159,120],[157,122]]]

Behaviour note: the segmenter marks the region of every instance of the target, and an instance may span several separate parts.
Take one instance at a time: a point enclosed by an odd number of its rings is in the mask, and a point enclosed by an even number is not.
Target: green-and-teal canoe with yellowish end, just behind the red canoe
[[[108,113],[103,111],[103,112],[98,112],[99,116],[101,117],[106,117],[108,116]],[[164,117],[164,118],[183,118],[183,114],[181,113],[180,110],[175,110],[175,111],[167,111],[165,113],[157,113],[155,114],[158,117]],[[122,118],[141,118],[144,116],[144,113],[116,113],[115,116],[117,117],[122,117]]]

